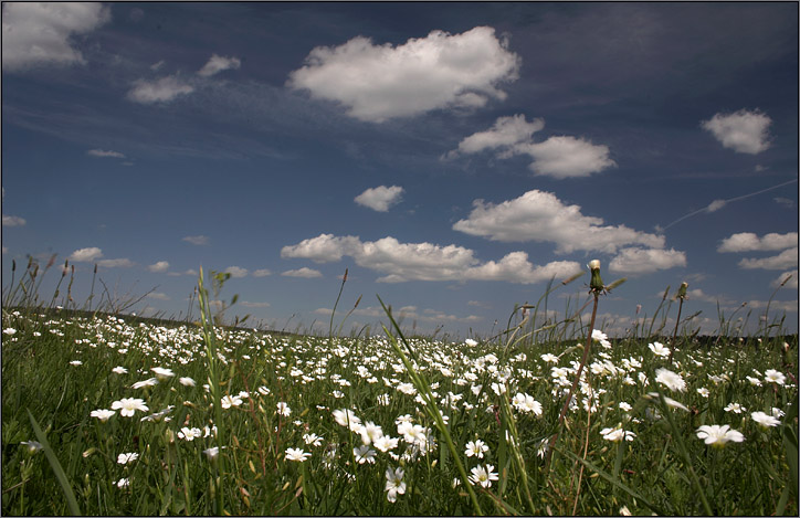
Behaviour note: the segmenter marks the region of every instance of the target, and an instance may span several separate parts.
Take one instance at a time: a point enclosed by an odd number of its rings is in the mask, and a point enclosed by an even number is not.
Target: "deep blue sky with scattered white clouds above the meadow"
[[[612,336],[797,332],[798,72],[796,2],[4,2],[3,290],[485,338],[599,260]]]

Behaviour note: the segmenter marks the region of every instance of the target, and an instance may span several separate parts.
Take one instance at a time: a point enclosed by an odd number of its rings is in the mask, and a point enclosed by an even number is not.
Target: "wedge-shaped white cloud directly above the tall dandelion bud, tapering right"
[[[602,219],[581,214],[579,205],[565,205],[550,192],[533,190],[497,205],[483,200],[475,200],[473,205],[470,216],[453,224],[453,230],[492,241],[552,242],[558,245],[558,253],[576,250],[615,253],[619,246],[631,244],[664,246],[663,235],[625,225],[603,225]]]

